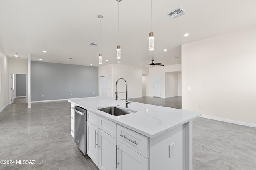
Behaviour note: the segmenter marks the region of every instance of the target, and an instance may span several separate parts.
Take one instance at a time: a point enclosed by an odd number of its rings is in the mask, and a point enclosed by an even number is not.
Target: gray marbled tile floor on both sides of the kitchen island
[[[152,103],[151,103],[152,104]],[[154,103],[153,103],[154,104]],[[70,134],[70,103],[12,104],[0,113],[0,170],[98,170]],[[194,170],[255,170],[256,128],[197,118],[193,122]]]

